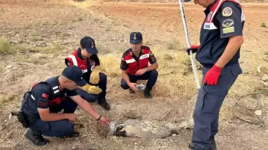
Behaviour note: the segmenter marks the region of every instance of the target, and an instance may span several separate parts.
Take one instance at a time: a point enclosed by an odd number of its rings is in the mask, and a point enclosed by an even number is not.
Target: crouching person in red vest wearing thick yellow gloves
[[[97,57],[95,40],[91,37],[83,37],[80,40],[80,48],[73,51],[66,57],[66,66],[79,66],[83,71],[83,79],[92,86],[99,86],[97,90],[87,93],[82,89],[77,89],[77,93],[88,102],[97,102],[106,110],[110,110],[110,105],[106,102],[107,76],[101,68]]]

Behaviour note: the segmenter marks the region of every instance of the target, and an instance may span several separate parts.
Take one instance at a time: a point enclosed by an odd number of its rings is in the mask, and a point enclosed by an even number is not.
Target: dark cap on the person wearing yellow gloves
[[[83,37],[80,40],[80,45],[82,48],[85,48],[86,51],[90,54],[97,54],[97,48],[95,46],[95,40],[92,37]]]

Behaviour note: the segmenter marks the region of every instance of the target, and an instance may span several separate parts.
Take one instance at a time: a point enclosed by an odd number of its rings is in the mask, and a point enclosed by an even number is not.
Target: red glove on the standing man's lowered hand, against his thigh
[[[218,82],[220,71],[222,71],[222,68],[214,64],[214,66],[211,69],[209,69],[209,71],[207,71],[207,74],[204,77],[204,84],[215,86]]]

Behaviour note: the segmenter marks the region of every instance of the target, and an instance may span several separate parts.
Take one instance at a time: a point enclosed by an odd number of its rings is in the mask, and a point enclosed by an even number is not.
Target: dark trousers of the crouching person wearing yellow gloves
[[[90,84],[89,81],[88,84]],[[99,86],[99,88],[102,89],[102,93],[99,94],[89,94],[86,91],[77,88],[77,94],[79,94],[84,100],[88,102],[96,102],[100,97],[105,97],[106,96],[106,88],[107,88],[107,76],[104,73],[99,73],[99,84],[90,84],[93,86]]]

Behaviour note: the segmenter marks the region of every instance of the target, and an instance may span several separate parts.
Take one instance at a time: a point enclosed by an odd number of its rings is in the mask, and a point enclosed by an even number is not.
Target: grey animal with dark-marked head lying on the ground
[[[124,122],[111,122],[109,131],[111,135],[137,138],[166,138],[177,133],[181,127],[168,122],[125,120]]]

